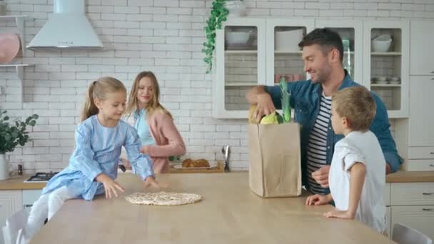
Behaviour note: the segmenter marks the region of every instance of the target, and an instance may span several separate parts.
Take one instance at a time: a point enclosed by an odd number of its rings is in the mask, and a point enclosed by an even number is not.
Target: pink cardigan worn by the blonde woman
[[[186,145],[181,134],[176,129],[173,120],[168,114],[155,111],[147,117],[150,133],[156,145],[149,146],[149,156],[153,160],[154,173],[167,173],[169,169],[169,156],[182,156],[186,154]]]

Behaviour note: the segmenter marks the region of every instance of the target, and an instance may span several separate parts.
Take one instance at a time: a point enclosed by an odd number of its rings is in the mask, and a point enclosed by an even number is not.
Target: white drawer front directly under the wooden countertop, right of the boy
[[[434,183],[391,183],[390,205],[434,205]]]

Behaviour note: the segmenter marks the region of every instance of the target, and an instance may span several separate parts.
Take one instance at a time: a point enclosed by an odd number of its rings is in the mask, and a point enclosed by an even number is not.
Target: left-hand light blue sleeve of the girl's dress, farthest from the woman
[[[76,128],[76,148],[71,156],[71,168],[81,171],[84,176],[94,181],[96,176],[103,173],[99,163],[94,161],[94,151],[91,149],[92,129],[89,125],[81,124]]]

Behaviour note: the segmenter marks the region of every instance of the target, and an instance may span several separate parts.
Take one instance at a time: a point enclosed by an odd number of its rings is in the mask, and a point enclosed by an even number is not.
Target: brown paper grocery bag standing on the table
[[[249,185],[263,198],[301,195],[298,123],[249,124]]]

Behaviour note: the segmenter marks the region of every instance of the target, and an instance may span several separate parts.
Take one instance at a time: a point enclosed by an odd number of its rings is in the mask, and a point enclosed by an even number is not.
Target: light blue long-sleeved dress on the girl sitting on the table
[[[96,116],[91,116],[76,128],[76,148],[69,166],[51,178],[42,194],[50,193],[66,185],[76,198],[92,200],[95,195],[104,193],[104,185],[95,177],[105,173],[113,180],[118,175],[118,161],[121,147],[128,154],[128,161],[144,180],[153,176],[152,161],[139,152],[141,141],[133,126],[119,121],[114,127],[104,127]]]

